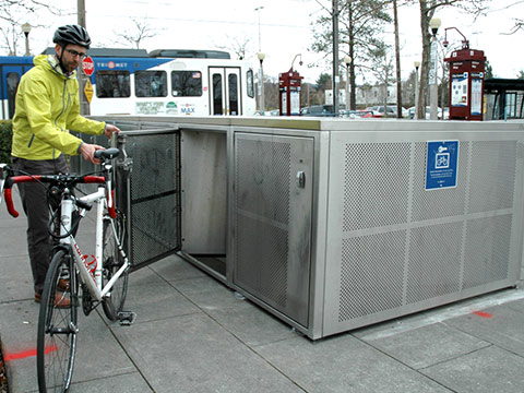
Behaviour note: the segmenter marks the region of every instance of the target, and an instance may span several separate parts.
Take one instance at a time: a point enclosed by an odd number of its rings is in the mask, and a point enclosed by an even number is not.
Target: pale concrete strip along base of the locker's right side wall
[[[488,299],[475,299],[465,306],[453,305],[451,303],[450,309],[442,311],[442,309],[433,309],[427,311],[430,313],[429,317],[420,319],[420,315],[415,313],[413,315],[407,315],[408,319],[403,319],[402,324],[398,324],[394,327],[382,330],[379,332],[373,332],[360,336],[359,338],[366,342],[388,338],[396,334],[406,333],[412,330],[431,325],[434,323],[443,322],[452,318],[466,315],[474,311],[485,310],[490,307],[500,306],[510,301],[524,299],[523,289],[510,289],[510,293],[504,291],[500,295],[487,294],[490,298]],[[413,318],[413,320],[409,320]]]

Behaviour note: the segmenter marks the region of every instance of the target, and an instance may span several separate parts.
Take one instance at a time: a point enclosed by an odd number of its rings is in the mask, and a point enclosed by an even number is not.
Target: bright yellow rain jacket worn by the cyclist
[[[35,160],[78,155],[82,141],[68,130],[100,135],[106,123],[80,115],[76,72],[66,75],[55,56],[37,56],[34,63],[16,93],[11,154]]]

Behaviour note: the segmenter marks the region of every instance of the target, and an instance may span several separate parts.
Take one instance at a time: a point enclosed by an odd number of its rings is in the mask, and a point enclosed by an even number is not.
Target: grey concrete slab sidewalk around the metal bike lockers
[[[25,226],[0,205],[0,336],[14,393],[38,390]],[[520,288],[313,343],[174,255],[131,274],[126,308],[132,326],[80,312],[71,392],[524,392]]]

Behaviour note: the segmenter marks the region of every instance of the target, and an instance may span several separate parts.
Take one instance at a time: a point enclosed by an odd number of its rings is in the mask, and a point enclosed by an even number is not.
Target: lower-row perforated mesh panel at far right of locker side
[[[512,215],[467,222],[464,288],[508,278]]]

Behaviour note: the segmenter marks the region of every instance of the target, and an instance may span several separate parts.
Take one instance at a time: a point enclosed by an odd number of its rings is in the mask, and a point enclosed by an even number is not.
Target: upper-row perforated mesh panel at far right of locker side
[[[469,212],[513,207],[516,141],[473,142]]]

